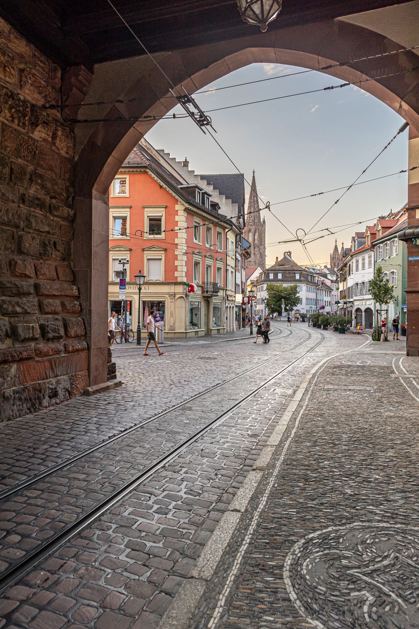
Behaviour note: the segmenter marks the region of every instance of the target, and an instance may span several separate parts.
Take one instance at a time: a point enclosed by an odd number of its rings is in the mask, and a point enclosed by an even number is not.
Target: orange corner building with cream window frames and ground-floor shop
[[[150,309],[165,336],[225,333],[226,300],[236,291],[227,268],[241,245],[240,230],[220,214],[211,194],[182,181],[138,144],[109,191],[109,312],[121,314],[119,278],[126,267],[128,320],[135,331]],[[123,260],[128,260],[122,264]],[[138,304],[134,276],[146,276]],[[188,284],[195,284],[195,293]],[[227,326],[226,326],[227,323]],[[160,325],[160,324],[159,324]]]

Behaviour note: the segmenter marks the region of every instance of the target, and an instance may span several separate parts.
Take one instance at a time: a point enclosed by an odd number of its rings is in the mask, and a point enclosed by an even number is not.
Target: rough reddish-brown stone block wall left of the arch
[[[88,354],[72,269],[73,131],[61,71],[0,19],[0,419],[80,394]]]

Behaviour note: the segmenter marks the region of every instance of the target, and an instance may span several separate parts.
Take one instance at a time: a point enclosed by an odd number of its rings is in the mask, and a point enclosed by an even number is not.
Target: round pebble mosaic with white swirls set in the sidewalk
[[[288,594],[320,629],[418,628],[418,533],[375,523],[311,533],[286,557]]]

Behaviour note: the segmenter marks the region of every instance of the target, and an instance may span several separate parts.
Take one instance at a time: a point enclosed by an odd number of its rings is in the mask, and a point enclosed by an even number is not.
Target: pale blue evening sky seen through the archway
[[[195,99],[204,111],[233,104],[274,98],[295,92],[322,89],[342,83],[339,79],[307,72],[287,76],[301,68],[280,64],[252,64],[202,88]],[[217,91],[232,84],[272,79],[253,85]],[[172,113],[183,113],[182,108]],[[349,86],[315,94],[288,97],[265,103],[225,109],[209,113],[222,148],[251,182],[255,170],[258,194],[269,201],[271,212],[266,219],[266,265],[290,250],[298,264],[329,264],[335,238],[349,246],[355,231],[363,231],[379,215],[400,209],[407,201],[407,174],[387,177],[353,187],[313,228],[313,237],[342,230],[342,225],[362,221],[336,235],[307,244],[310,258],[301,243],[279,243],[292,238],[297,229],[306,232],[340,194],[335,191],[314,198],[280,203],[296,197],[328,191],[349,184],[376,157],[395,135],[404,120],[374,96],[358,87]],[[214,140],[190,119],[161,120],[149,131],[146,139],[163,148],[171,157],[189,160],[196,173],[237,172]],[[384,151],[359,181],[388,175],[408,167],[408,131]],[[246,184],[246,203],[249,186]],[[273,216],[275,214],[283,225]],[[335,229],[336,228],[336,229]],[[298,231],[301,237],[302,231]],[[311,234],[310,234],[311,236]],[[310,240],[310,237],[307,237]]]

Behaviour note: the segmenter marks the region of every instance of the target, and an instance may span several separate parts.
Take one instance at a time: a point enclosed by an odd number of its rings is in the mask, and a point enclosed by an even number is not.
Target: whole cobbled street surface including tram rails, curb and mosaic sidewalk
[[[121,387],[5,425],[0,626],[419,626],[417,360],[236,339],[114,346]]]

